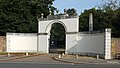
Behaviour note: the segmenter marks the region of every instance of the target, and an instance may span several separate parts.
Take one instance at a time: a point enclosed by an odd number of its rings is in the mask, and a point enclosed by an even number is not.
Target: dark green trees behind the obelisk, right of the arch
[[[120,2],[110,1],[103,4],[99,9],[85,10],[80,16],[80,31],[88,31],[89,29],[89,13],[93,13],[94,31],[103,30],[105,28],[112,29],[112,37],[120,37]],[[114,7],[113,7],[114,6]],[[116,7],[115,7],[116,6]]]

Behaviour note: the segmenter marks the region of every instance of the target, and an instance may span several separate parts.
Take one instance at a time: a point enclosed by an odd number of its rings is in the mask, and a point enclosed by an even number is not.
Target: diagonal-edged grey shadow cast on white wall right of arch
[[[67,50],[70,54],[104,55],[104,34],[79,34],[78,42]]]

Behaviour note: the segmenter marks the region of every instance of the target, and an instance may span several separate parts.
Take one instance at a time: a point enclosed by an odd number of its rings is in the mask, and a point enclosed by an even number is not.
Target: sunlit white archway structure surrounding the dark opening
[[[60,19],[42,19],[39,20],[39,29],[38,29],[38,52],[40,53],[50,53],[50,31],[52,25],[59,23],[64,27],[65,30],[65,53],[71,51],[71,48],[76,44],[79,18],[60,18]]]

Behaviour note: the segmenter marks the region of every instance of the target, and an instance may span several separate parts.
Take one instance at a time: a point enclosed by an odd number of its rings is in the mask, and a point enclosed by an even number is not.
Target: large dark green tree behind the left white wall
[[[0,34],[6,32],[37,32],[37,19],[44,13],[49,14],[49,7],[54,0],[0,0]]]

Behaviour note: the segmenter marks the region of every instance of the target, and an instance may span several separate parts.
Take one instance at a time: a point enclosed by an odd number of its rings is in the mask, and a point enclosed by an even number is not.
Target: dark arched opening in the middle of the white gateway
[[[65,28],[60,23],[53,23],[50,30],[49,52],[64,53],[65,52]]]

